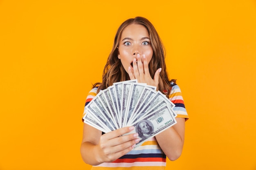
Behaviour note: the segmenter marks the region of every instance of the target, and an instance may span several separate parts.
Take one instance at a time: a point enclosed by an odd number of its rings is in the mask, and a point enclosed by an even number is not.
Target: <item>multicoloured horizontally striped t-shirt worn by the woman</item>
[[[96,95],[97,87],[89,92],[85,106]],[[169,99],[175,104],[173,110],[177,113],[177,117],[188,119],[189,117],[186,113],[180,87],[173,82],[171,83]],[[152,137],[119,159],[110,163],[101,163],[98,166],[92,166],[91,170],[164,170],[165,166],[166,155],[158,145],[156,138]]]

